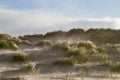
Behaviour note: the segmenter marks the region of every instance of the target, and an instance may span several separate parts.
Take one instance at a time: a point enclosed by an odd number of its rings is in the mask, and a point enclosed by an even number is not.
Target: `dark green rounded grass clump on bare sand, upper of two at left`
[[[16,63],[26,63],[30,60],[30,57],[23,53],[17,53],[13,56],[12,61]]]

